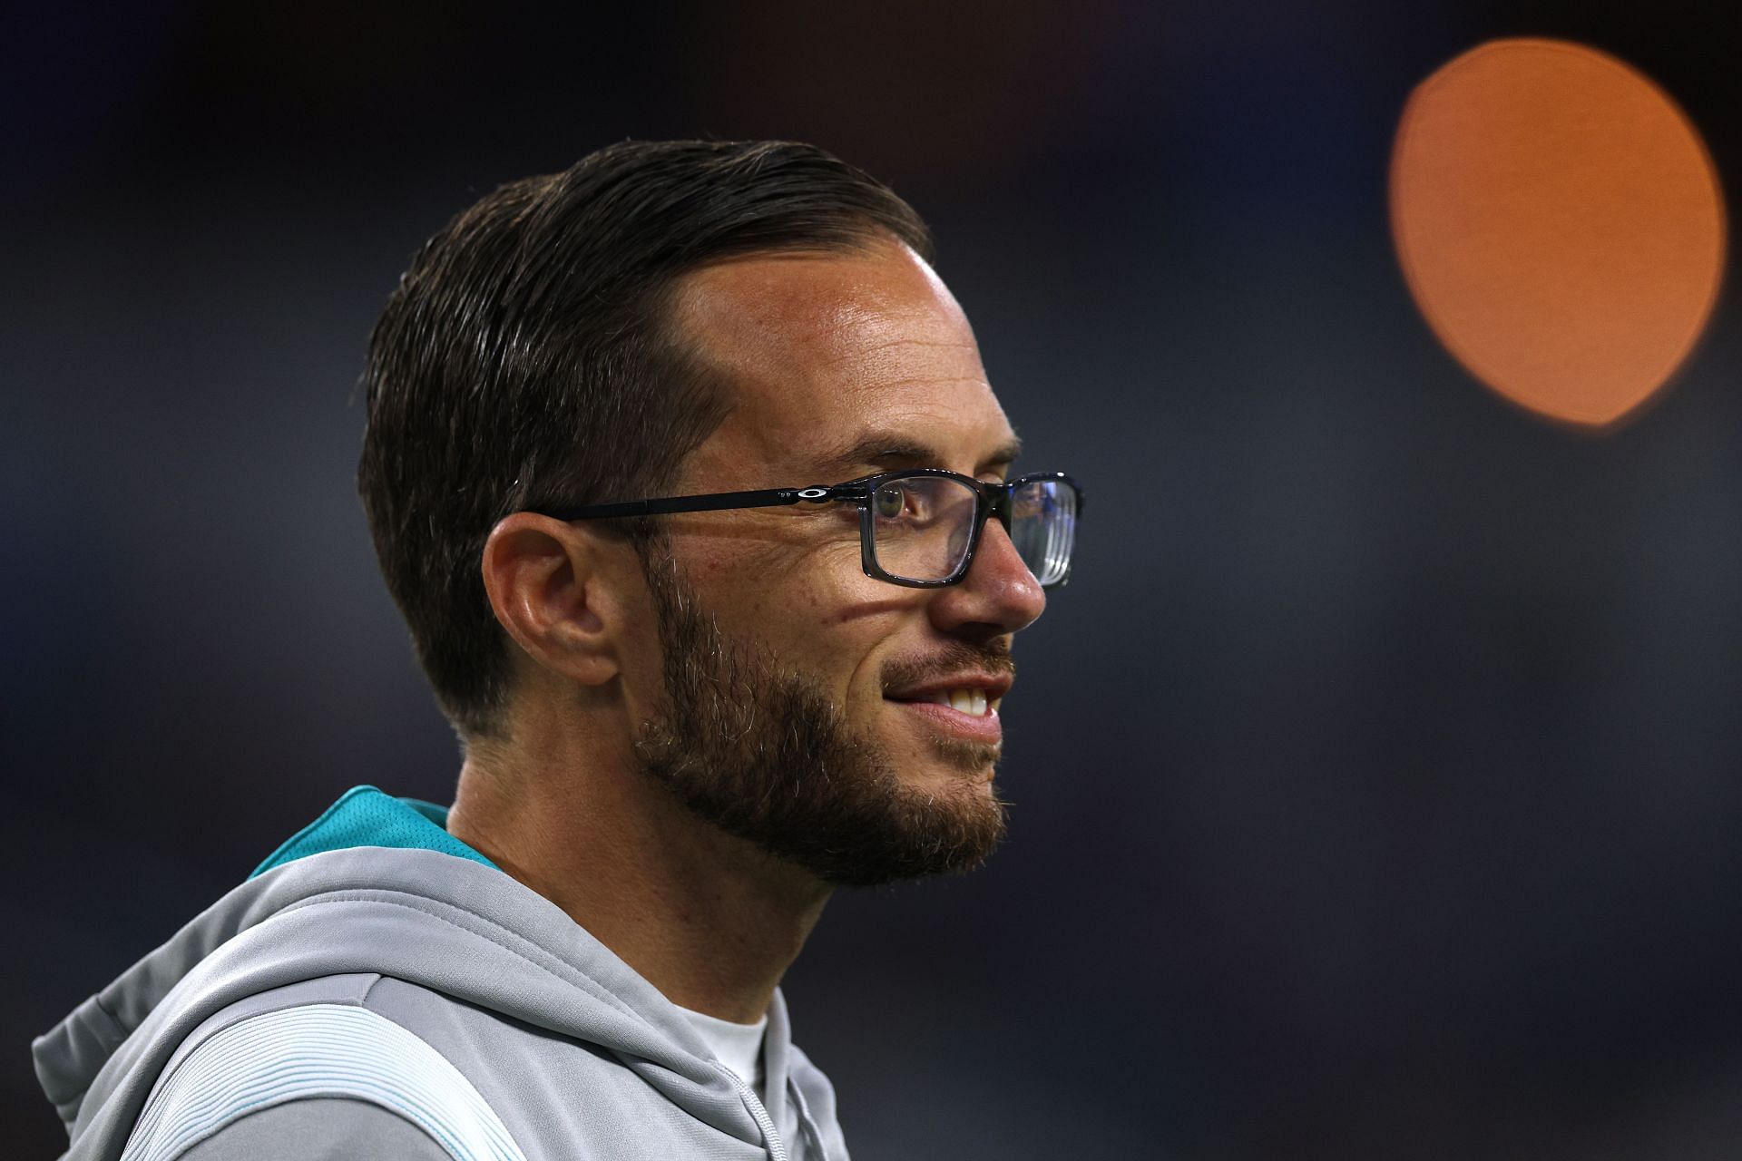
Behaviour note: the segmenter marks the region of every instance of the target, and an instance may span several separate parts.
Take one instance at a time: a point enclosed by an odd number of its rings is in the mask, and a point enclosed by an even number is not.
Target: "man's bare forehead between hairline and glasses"
[[[676,320],[732,392],[685,472],[693,486],[834,482],[791,473],[864,473],[890,449],[972,473],[1014,442],[967,317],[897,242],[692,272]]]

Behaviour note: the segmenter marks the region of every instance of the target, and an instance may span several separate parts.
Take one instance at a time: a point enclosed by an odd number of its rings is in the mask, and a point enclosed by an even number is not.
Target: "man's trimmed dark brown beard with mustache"
[[[658,614],[665,705],[636,752],[650,776],[700,818],[834,886],[958,874],[1003,839],[1007,804],[979,783],[998,747],[939,738],[963,776],[902,783],[868,729],[854,729],[814,677],[765,646],[728,641],[683,581],[669,548],[643,547]],[[1009,648],[953,644],[892,665],[885,688],[976,665],[1010,672]]]

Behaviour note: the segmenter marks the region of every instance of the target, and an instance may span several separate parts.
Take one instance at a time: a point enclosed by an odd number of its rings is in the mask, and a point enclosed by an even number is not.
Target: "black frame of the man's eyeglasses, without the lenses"
[[[871,496],[876,489],[890,484],[894,480],[904,479],[922,479],[922,477],[944,477],[958,480],[974,489],[974,524],[969,529],[969,547],[962,555],[962,564],[956,571],[944,580],[922,581],[911,576],[897,576],[885,571],[876,562],[876,515],[871,512]],[[699,496],[665,496],[662,500],[622,500],[617,503],[603,505],[582,505],[578,508],[547,508],[540,510],[538,515],[547,515],[552,520],[606,520],[606,519],[634,519],[648,515],[671,515],[676,512],[728,512],[732,508],[779,508],[782,505],[796,503],[850,503],[859,507],[859,564],[864,567],[866,576],[874,580],[888,581],[890,585],[904,585],[908,588],[948,588],[949,585],[960,585],[962,578],[969,574],[969,567],[974,564],[974,554],[979,550],[981,534],[986,531],[986,519],[998,517],[998,524],[1003,526],[1005,534],[1010,533],[1010,501],[1017,487],[1026,487],[1028,484],[1047,484],[1057,482],[1064,484],[1077,496],[1077,510],[1071,513],[1073,519],[1080,519],[1084,512],[1084,489],[1077,486],[1077,480],[1068,477],[1064,472],[1031,472],[1028,475],[1019,475],[1014,480],[1005,480],[1002,484],[989,484],[986,480],[976,480],[972,475],[962,475],[960,472],[949,472],[946,468],[902,468],[899,472],[878,472],[876,475],[861,475],[855,480],[847,480],[845,484],[819,484],[812,487],[768,487],[761,491],[749,493],[704,493]],[[1075,547],[1075,545],[1073,545]],[[1033,569],[1030,569],[1033,571]],[[1071,578],[1071,566],[1064,566],[1064,576],[1052,581],[1050,585],[1042,585],[1043,588],[1057,588]]]

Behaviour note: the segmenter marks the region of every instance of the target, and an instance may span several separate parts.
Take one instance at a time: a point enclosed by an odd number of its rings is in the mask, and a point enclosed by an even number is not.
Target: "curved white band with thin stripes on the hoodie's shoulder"
[[[460,1069],[354,1004],[280,1008],[214,1032],[157,1083],[120,1161],[172,1161],[249,1112],[317,1097],[380,1105],[453,1161],[526,1161]]]

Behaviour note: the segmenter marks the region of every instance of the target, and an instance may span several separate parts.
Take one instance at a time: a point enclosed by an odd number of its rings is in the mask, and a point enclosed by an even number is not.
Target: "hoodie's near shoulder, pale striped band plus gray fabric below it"
[[[160,1079],[122,1161],[327,1156],[310,1142],[333,1156],[521,1158],[429,1043],[359,1004],[307,1003],[200,1037]]]

